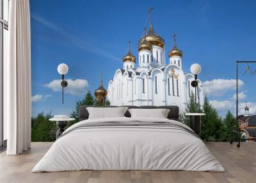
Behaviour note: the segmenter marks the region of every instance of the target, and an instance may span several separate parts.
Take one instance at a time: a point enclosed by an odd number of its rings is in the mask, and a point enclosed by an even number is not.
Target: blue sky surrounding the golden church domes
[[[211,104],[221,115],[227,109],[234,111],[236,60],[256,60],[256,1],[31,0],[33,116],[41,111],[70,114],[86,91],[93,92],[99,86],[100,72],[107,88],[115,70],[122,67],[129,40],[138,57],[138,40],[148,24],[151,6],[154,29],[166,42],[166,59],[176,33],[177,45],[184,52],[184,71],[200,63],[199,77],[205,82]],[[67,63],[66,78],[73,84],[65,93],[65,104],[51,83],[60,79],[56,69],[60,63]],[[250,67],[254,71],[256,64]],[[239,109],[247,100],[255,113],[256,74],[242,76],[245,68],[241,65],[239,70]]]

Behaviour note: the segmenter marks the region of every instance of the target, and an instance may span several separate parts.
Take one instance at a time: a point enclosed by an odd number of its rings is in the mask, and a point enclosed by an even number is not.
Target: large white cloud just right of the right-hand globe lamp
[[[243,81],[238,80],[238,86],[243,86]],[[229,90],[236,89],[236,79],[213,79],[211,81],[204,82],[205,95],[224,95]]]

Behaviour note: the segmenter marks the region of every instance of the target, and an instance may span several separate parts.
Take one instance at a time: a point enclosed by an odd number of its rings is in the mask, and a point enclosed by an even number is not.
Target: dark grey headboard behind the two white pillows
[[[89,113],[86,107],[119,107],[119,106],[79,106],[79,121],[87,120],[89,117]],[[139,109],[170,109],[167,118],[169,120],[179,121],[179,107],[178,106],[120,106],[120,107],[129,107],[139,108]],[[125,117],[131,117],[131,114],[127,110],[124,114]]]

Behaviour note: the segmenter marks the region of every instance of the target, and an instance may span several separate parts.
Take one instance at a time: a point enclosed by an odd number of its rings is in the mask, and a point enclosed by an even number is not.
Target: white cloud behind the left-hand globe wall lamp
[[[89,86],[86,79],[66,79],[68,86],[64,88],[65,93],[70,93],[72,95],[83,95],[86,93],[86,90]],[[44,86],[50,88],[54,92],[61,92],[61,79],[54,79],[50,83],[45,84]]]

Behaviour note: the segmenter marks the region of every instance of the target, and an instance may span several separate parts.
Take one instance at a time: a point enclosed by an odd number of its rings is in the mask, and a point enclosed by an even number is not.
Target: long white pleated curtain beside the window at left
[[[31,47],[29,0],[11,0],[8,61],[4,71],[4,107],[8,155],[31,145]]]

